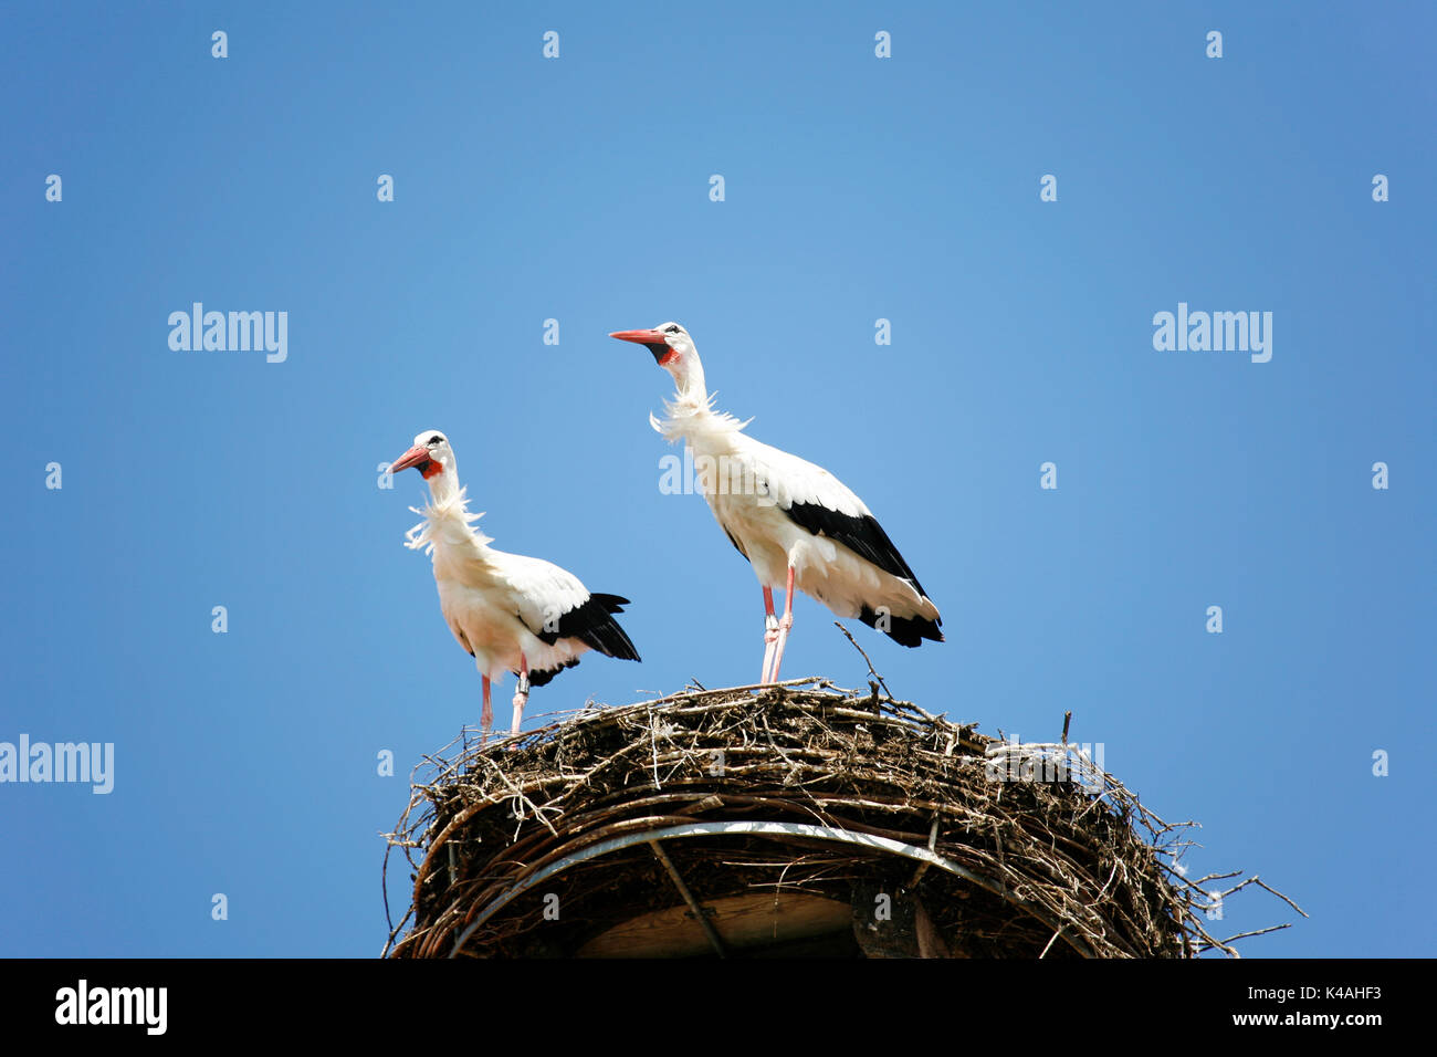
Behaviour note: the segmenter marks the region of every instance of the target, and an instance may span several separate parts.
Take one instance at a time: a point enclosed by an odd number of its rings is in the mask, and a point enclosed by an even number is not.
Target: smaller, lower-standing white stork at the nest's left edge
[[[468,650],[484,683],[483,741],[494,720],[490,680],[504,672],[519,676],[512,733],[519,733],[530,686],[543,686],[579,656],[598,650],[621,660],[638,660],[634,643],[614,620],[628,598],[589,594],[579,578],[542,558],[504,554],[471,528],[481,513],[470,513],[458,485],[454,449],[437,430],[424,430],[414,446],[394,460],[398,473],[415,467],[430,486],[424,521],[405,534],[407,546],[434,557],[444,623]]]

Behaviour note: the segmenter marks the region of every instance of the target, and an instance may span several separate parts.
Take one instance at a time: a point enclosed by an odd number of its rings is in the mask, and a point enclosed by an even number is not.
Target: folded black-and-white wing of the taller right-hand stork
[[[924,598],[928,597],[884,526],[844,482],[796,454],[752,437],[744,440],[753,444],[747,454],[753,462],[759,495],[764,495],[763,489],[767,489],[767,496],[789,521],[813,535],[842,544],[884,572],[907,580]]]

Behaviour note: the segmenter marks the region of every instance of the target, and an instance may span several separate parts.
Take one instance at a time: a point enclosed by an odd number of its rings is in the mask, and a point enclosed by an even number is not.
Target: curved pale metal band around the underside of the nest
[[[589,859],[598,859],[599,856],[606,856],[609,851],[618,851],[621,848],[632,847],[635,844],[648,844],[651,841],[671,840],[677,837],[724,837],[736,834],[757,834],[762,837],[810,837],[813,840],[829,840],[839,844],[858,844],[861,847],[877,848],[881,851],[891,851],[892,854],[902,856],[905,859],[915,859],[920,863],[927,863],[928,866],[935,866],[940,870],[947,870],[951,874],[963,877],[964,880],[973,882],[986,892],[992,892],[999,899],[1009,903],[1019,903],[1027,913],[1033,915],[1038,920],[1043,922],[1056,932],[1063,932],[1065,928],[1042,909],[1035,907],[1026,902],[1017,900],[1009,894],[1007,889],[992,877],[984,877],[981,874],[973,873],[966,866],[960,866],[931,851],[925,847],[917,844],[905,844],[901,840],[892,840],[891,837],[877,837],[869,833],[852,833],[849,830],[835,830],[829,825],[812,825],[809,823],[691,823],[688,825],[670,825],[664,830],[648,830],[644,833],[629,833],[622,837],[611,837],[609,840],[601,840],[598,844],[583,848],[582,851],[575,851],[572,856],[565,856],[558,863],[550,863],[533,877],[522,880],[514,884],[509,892],[502,894],[493,903],[486,906],[479,918],[476,918],[464,932],[460,933],[458,939],[454,941],[454,948],[450,951],[450,958],[458,956],[458,952],[464,949],[464,943],[468,938],[474,935],[484,922],[493,918],[496,913],[503,910],[510,902],[522,896],[525,892],[532,889],[535,884],[553,877],[556,873],[568,870],[576,863],[586,861]],[[1091,958],[1092,952],[1088,945],[1079,941],[1076,936],[1068,936],[1068,941],[1078,948],[1078,951]]]

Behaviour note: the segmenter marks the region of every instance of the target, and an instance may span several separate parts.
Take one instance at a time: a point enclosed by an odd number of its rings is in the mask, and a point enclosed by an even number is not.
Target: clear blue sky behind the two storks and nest
[[[852,621],[895,693],[1072,709],[1193,876],[1312,915],[1250,956],[1431,955],[1433,10],[6,4],[0,741],[112,742],[114,790],[0,785],[0,953],[378,953],[378,834],[480,706],[422,483],[376,485],[421,429],[496,546],[632,600],[644,663],[533,723],[752,682],[757,582],[606,337],[677,319],[941,608]],[[193,302],[286,358],[172,349]],[[1180,303],[1270,312],[1270,360],[1155,349]],[[865,667],[803,598],[810,673]]]

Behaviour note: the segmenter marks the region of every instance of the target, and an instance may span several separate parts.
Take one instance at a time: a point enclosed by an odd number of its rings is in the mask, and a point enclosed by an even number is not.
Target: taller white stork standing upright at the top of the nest
[[[667,417],[651,414],[650,423],[670,441],[683,439],[693,449],[714,518],[763,587],[760,682],[779,679],[795,587],[835,616],[858,617],[904,646],[943,641],[938,608],[864,500],[822,466],[754,440],[743,433],[747,421],[713,410],[688,331],[661,324],[609,337],[644,345],[674,377],[678,393],[665,403]],[[773,588],[780,584],[782,618],[773,613]]]

